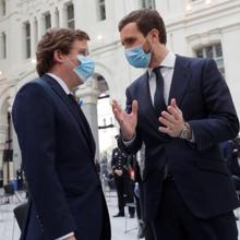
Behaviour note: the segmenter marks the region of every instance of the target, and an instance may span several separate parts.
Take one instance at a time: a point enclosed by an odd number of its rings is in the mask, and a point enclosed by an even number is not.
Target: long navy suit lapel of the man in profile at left
[[[76,120],[81,131],[83,132],[86,141],[87,141],[87,146],[91,149],[95,151],[95,144],[92,143],[91,136],[92,136],[92,132],[89,129],[89,125],[87,123],[87,120],[84,116],[84,113],[82,112],[81,109],[79,109],[79,111],[76,111],[76,109],[74,108],[74,106],[72,105],[72,103],[70,101],[68,95],[65,94],[65,92],[62,89],[62,87],[58,84],[57,81],[55,81],[51,76],[48,75],[44,75],[41,77],[43,80],[45,80],[48,84],[50,84],[51,88],[53,89],[53,92],[62,99],[62,101],[68,106],[68,109],[70,110],[70,112],[72,113],[72,116],[74,117],[74,119]],[[92,148],[93,147],[93,148]]]

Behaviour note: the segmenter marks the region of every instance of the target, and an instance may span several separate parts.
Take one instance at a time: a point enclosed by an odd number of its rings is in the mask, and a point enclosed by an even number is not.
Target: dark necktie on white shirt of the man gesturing
[[[154,108],[159,116],[163,110],[166,110],[167,106],[164,99],[164,77],[160,73],[160,68],[157,67],[153,71],[156,74],[156,91],[154,94]]]

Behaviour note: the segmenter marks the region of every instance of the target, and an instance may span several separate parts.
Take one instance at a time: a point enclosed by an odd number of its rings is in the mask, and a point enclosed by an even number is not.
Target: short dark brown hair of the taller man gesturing
[[[124,16],[119,25],[119,32],[129,23],[136,23],[143,36],[146,36],[152,29],[156,28],[159,32],[159,43],[167,44],[167,34],[164,20],[156,10],[140,9]]]

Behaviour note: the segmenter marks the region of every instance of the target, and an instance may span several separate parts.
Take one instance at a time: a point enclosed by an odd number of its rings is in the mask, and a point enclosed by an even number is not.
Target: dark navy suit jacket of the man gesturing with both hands
[[[237,207],[238,200],[218,143],[233,139],[239,122],[225,80],[211,59],[177,56],[169,101],[176,98],[195,143],[158,132],[146,72],[127,88],[127,111],[139,101],[136,136],[130,146],[119,137],[119,147],[135,153],[145,143],[145,220],[156,216],[160,202],[163,167],[173,175],[190,211],[209,218]]]

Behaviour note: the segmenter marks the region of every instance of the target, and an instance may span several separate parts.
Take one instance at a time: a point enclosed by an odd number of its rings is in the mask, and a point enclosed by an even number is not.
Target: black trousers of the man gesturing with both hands
[[[201,219],[192,215],[173,180],[165,180],[157,218],[146,226],[146,240],[238,240],[232,212]]]

